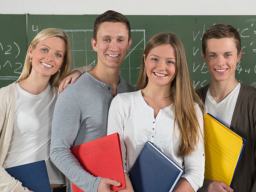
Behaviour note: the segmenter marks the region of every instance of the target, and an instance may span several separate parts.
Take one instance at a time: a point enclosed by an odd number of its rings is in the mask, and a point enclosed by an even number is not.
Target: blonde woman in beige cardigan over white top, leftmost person
[[[29,46],[20,78],[0,89],[1,192],[31,192],[5,169],[39,160],[46,161],[52,188],[65,184],[64,175],[49,158],[49,149],[57,87],[70,73],[70,67],[66,33],[44,29]]]

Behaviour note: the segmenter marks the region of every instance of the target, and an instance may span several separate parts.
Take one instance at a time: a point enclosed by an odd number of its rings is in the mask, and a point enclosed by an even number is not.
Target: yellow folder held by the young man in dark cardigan
[[[204,116],[204,140],[204,177],[230,185],[246,140],[209,113]]]

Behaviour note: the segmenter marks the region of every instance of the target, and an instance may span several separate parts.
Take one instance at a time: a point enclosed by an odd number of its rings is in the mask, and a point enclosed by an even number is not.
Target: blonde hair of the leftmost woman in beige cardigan
[[[63,63],[61,64],[61,68],[60,68],[60,72],[57,72],[55,74],[53,74],[50,77],[50,83],[52,86],[58,87],[59,84],[61,83],[61,81],[70,73],[70,68],[71,68],[71,51],[70,51],[70,39],[67,36],[67,34],[58,28],[48,28],[48,29],[44,29],[41,32],[38,33],[38,35],[35,36],[35,38],[33,39],[33,41],[31,42],[30,45],[32,45],[32,49],[35,49],[35,47],[37,46],[37,44],[40,41],[43,41],[44,39],[50,38],[50,37],[59,37],[61,38],[64,42],[65,42],[65,46],[66,46],[66,52],[64,55],[64,60]],[[29,47],[30,47],[29,45]],[[32,70],[32,62],[29,61],[29,49],[27,51],[26,54],[26,58],[25,58],[25,62],[24,62],[24,67],[23,70],[20,74],[19,79],[17,80],[17,82],[22,81],[24,79],[26,79],[29,74],[31,73]]]

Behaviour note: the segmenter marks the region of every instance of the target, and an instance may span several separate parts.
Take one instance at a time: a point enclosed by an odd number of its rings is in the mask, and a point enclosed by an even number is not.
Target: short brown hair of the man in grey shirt
[[[121,13],[115,12],[115,11],[112,11],[112,10],[108,10],[105,13],[102,13],[94,21],[93,39],[95,41],[97,41],[97,32],[98,32],[98,29],[99,29],[99,25],[101,23],[104,23],[104,22],[113,22],[113,23],[121,22],[121,23],[124,23],[126,25],[127,30],[128,30],[128,41],[130,41],[130,39],[131,39],[131,26],[130,26],[129,20],[124,15],[122,15]]]

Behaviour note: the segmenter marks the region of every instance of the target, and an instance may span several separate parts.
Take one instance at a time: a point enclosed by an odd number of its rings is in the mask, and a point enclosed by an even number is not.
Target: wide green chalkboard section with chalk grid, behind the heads
[[[70,36],[73,67],[96,64],[97,54],[93,51],[90,41],[97,15],[27,16],[28,44],[42,29],[58,27]],[[137,82],[145,44],[153,35],[165,31],[174,32],[183,42],[194,87],[208,84],[210,77],[201,55],[201,37],[204,31],[215,23],[230,23],[239,30],[243,55],[236,67],[236,78],[247,84],[256,81],[256,16],[128,15],[127,17],[131,23],[132,45],[121,66],[121,71],[122,77],[131,84]],[[0,58],[0,63],[1,60]],[[2,80],[0,80],[1,86]]]

